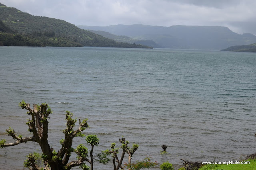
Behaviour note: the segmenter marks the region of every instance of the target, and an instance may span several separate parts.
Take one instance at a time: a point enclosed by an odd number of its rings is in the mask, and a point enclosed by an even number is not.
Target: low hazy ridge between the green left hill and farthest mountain
[[[138,40],[138,39],[133,39],[133,38],[127,37],[125,35],[114,35],[112,33],[106,32],[106,31],[95,31],[95,30],[88,30],[88,31],[102,35],[103,37],[106,37],[106,38],[114,39],[115,41],[119,41],[119,42],[136,43],[136,44],[141,44],[141,45],[147,45],[147,46],[154,47],[154,48],[163,48],[162,46],[160,46],[159,44],[157,44],[156,42],[154,42],[152,40]]]

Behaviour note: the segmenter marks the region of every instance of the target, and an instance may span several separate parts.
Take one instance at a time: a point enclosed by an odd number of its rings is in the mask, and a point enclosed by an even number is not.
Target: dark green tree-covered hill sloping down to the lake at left
[[[55,18],[32,16],[21,12],[16,8],[6,7],[0,4],[0,20],[4,24],[0,32],[0,41],[4,45],[17,45],[7,39],[16,40],[19,36],[18,45],[26,46],[63,46],[63,47],[129,47],[149,48],[144,45],[116,42],[101,35],[80,29],[64,20]],[[13,35],[6,29],[12,30]],[[14,38],[15,37],[15,38]]]

